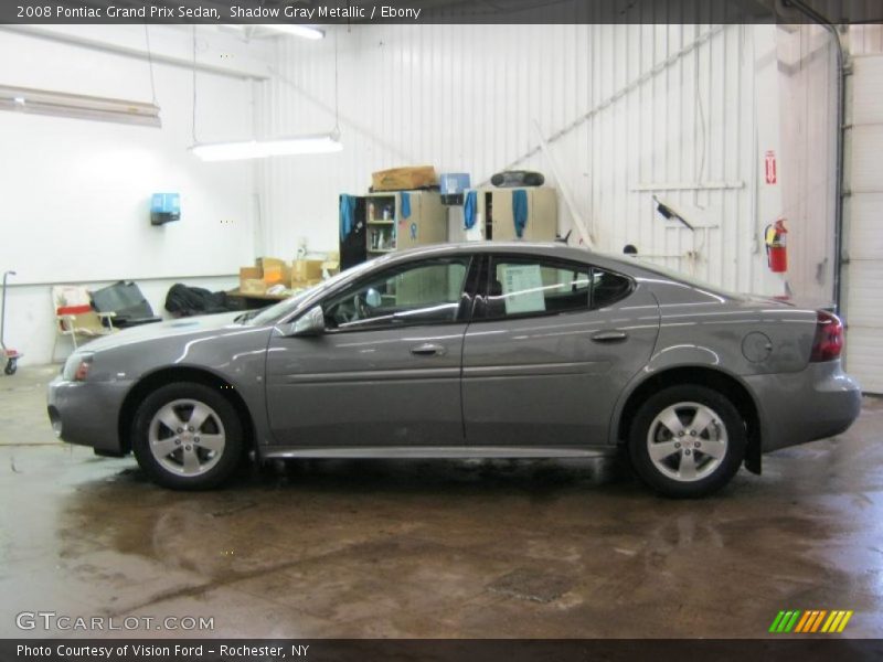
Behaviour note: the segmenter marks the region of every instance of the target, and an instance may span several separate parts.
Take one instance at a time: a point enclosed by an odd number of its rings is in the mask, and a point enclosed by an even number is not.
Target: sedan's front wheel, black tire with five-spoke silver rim
[[[187,404],[182,404],[187,403]],[[169,408],[179,417],[194,416],[195,407],[190,403],[206,407],[211,413],[198,429],[189,431],[188,418],[179,418],[181,427],[171,427],[158,421],[160,410]],[[206,409],[201,409],[205,412]],[[151,427],[156,428],[151,433]],[[192,426],[191,426],[192,427]],[[151,434],[153,441],[151,441]],[[209,438],[222,439],[221,448],[208,448],[202,444]],[[162,438],[158,438],[162,437]],[[175,444],[177,448],[166,457],[156,452],[151,445]],[[242,461],[244,451],[243,427],[235,407],[219,393],[217,388],[190,382],[167,384],[145,398],[135,415],[132,424],[132,451],[138,465],[156,483],[173,490],[210,490],[231,478]],[[184,465],[184,449],[196,456],[199,469],[193,472]],[[190,453],[189,453],[190,455]],[[180,467],[179,467],[180,463]]]

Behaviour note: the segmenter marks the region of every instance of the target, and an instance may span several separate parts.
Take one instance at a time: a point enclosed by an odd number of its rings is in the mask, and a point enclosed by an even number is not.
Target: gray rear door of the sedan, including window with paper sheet
[[[545,258],[491,256],[482,279],[464,344],[467,444],[606,444],[616,399],[656,343],[656,299],[624,276]]]

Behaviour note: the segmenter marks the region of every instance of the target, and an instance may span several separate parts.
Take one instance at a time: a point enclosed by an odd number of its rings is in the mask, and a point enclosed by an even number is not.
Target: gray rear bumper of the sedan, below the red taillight
[[[757,403],[763,452],[839,435],[862,408],[861,387],[840,361],[810,363],[798,373],[754,375],[745,383]]]

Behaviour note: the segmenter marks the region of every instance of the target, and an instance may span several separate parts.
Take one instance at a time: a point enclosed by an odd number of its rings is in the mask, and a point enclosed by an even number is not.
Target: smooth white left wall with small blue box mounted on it
[[[243,46],[201,29],[198,58],[227,57]],[[0,270],[14,269],[6,340],[25,362],[51,359],[54,341],[52,284],[96,289],[135,279],[162,312],[172,282],[211,289],[236,284],[240,265],[254,258],[254,167],[203,163],[192,145],[190,29],[151,26],[157,103],[162,128],[0,113]],[[143,26],[68,29],[86,46],[3,31],[0,83],[85,95],[151,99],[145,58],[95,47],[143,47]],[[220,51],[217,44],[221,44]],[[163,56],[178,56],[184,66]],[[214,62],[208,63],[214,64]],[[254,70],[254,63],[249,63]],[[251,137],[253,83],[235,71],[198,73],[198,138]],[[149,222],[155,191],[181,193],[182,220]],[[56,357],[66,353],[66,339]]]

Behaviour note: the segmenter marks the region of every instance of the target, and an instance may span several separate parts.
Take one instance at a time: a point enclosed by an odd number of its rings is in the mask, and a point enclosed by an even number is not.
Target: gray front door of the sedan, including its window
[[[325,334],[275,333],[266,389],[276,442],[462,444],[469,261],[468,256],[424,259],[365,276],[322,302]]]

